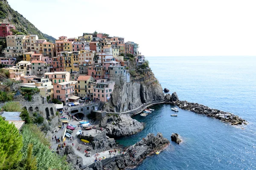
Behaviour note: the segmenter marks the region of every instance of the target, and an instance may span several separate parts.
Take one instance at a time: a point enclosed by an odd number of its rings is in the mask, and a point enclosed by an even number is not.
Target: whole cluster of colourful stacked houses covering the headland
[[[108,34],[84,33],[58,37],[55,44],[37,35],[12,35],[15,26],[1,23],[6,38],[1,64],[10,78],[26,88],[38,88],[44,103],[58,99],[64,105],[108,102],[116,81],[130,82],[127,59],[145,62],[135,42]],[[18,58],[22,58],[18,61]]]

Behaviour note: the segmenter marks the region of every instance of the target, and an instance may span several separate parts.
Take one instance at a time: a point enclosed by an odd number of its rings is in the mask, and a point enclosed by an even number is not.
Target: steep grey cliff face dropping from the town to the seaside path
[[[150,68],[140,69],[134,63],[132,68],[135,73],[131,74],[131,82],[115,85],[111,100],[104,106],[105,111],[124,112],[164,99],[163,89]]]

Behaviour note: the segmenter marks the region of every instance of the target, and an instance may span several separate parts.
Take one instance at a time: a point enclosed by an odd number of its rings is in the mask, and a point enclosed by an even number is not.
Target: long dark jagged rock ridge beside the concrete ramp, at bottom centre
[[[153,133],[148,133],[140,142],[128,147],[124,154],[114,157],[113,160],[96,162],[85,170],[123,170],[125,168],[134,168],[146,156],[165,149],[169,143],[169,140],[164,138],[162,133],[157,133],[156,136]]]

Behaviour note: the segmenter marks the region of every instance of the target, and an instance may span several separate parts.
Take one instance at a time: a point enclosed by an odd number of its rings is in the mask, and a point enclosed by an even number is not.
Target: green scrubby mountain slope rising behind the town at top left
[[[43,34],[32,23],[30,23],[23,15],[13,10],[7,0],[0,0],[0,22],[8,20],[15,25],[18,34],[37,34],[39,39],[46,39],[50,42],[55,41],[55,38]]]

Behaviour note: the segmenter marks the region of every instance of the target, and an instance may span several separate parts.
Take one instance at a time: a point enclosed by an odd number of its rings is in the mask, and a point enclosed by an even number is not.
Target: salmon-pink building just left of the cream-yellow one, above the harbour
[[[71,85],[71,82],[61,82],[53,85],[53,97],[55,99],[60,100],[61,102],[64,103],[64,105],[69,102],[69,98],[73,97],[75,92],[74,92],[74,86]],[[72,100],[71,98],[70,100]],[[78,97],[79,99],[79,97]],[[72,101],[73,102],[73,101]]]

